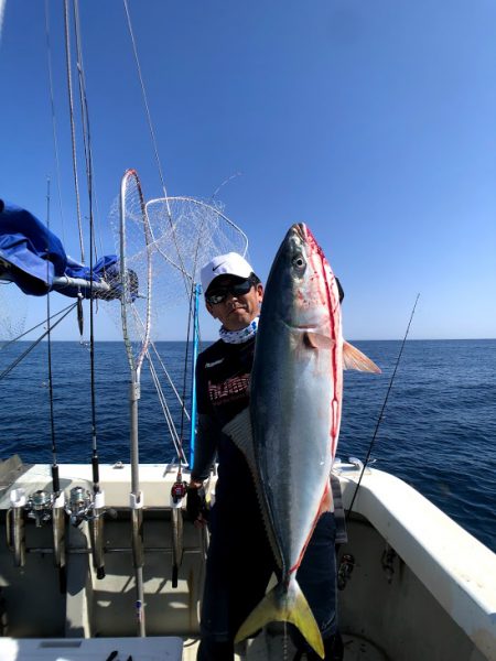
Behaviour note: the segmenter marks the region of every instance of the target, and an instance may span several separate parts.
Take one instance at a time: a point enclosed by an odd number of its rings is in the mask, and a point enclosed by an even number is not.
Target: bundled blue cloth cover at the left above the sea
[[[76,286],[58,288],[54,278],[67,275],[91,280],[88,267],[67,257],[62,241],[30,212],[0,201],[0,275],[14,282],[25,294],[42,296],[51,290],[77,296]],[[117,256],[99,259],[93,269],[93,281],[117,279]],[[3,263],[2,263],[3,262]],[[3,273],[2,273],[3,272]],[[82,290],[89,297],[89,290]],[[117,297],[116,290],[106,297]]]

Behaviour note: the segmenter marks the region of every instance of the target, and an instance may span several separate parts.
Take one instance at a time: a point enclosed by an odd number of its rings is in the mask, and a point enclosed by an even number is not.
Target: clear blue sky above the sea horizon
[[[1,195],[78,257],[58,1],[48,1],[65,227],[44,2],[7,0],[0,42]],[[496,6],[489,0],[129,0],[171,195],[219,198],[263,279],[305,221],[339,277],[348,338],[496,336]],[[127,167],[161,195],[120,0],[80,2],[104,251]],[[80,145],[79,145],[80,147]],[[79,149],[82,153],[82,150]],[[80,169],[84,183],[83,166]],[[31,299],[29,319],[43,314]],[[53,296],[62,307],[66,299]],[[181,339],[185,315],[157,328]],[[203,336],[215,324],[203,319]],[[58,338],[74,338],[76,325]],[[118,338],[98,312],[97,338]]]

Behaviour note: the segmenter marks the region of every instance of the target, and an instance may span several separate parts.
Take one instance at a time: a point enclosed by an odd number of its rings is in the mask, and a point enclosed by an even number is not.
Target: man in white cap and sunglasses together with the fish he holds
[[[235,641],[284,621],[308,659],[339,660],[330,472],[343,368],[378,368],[343,340],[338,283],[303,224],[288,231],[265,292],[237,253],[206,264],[202,285],[222,328],[196,371],[191,512],[218,459],[197,659],[231,661]]]

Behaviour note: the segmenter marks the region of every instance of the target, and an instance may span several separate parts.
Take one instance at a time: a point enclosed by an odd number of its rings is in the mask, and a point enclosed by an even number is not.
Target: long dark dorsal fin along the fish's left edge
[[[270,548],[272,549],[276,562],[278,563],[279,567],[282,568],[281,552],[276,541],[273,527],[270,521],[270,514],[263,496],[263,488],[260,484],[260,476],[257,469],[249,408],[244,409],[240,413],[238,413],[238,415],[236,415],[236,418],[233,418],[233,420],[223,427],[223,433],[229,436],[229,438],[233,441],[236,447],[240,449],[245,455],[245,458],[251,473],[251,477],[254,478],[258,505],[262,513],[263,524],[266,528],[267,537],[269,539]]]

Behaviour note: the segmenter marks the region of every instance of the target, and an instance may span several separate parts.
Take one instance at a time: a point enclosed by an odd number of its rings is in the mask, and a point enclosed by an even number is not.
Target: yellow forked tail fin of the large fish
[[[245,640],[269,622],[291,622],[300,630],[321,659],[324,658],[321,631],[309,603],[294,578],[290,581],[288,589],[284,589],[282,583],[279,583],[267,593],[240,626],[235,642]]]

